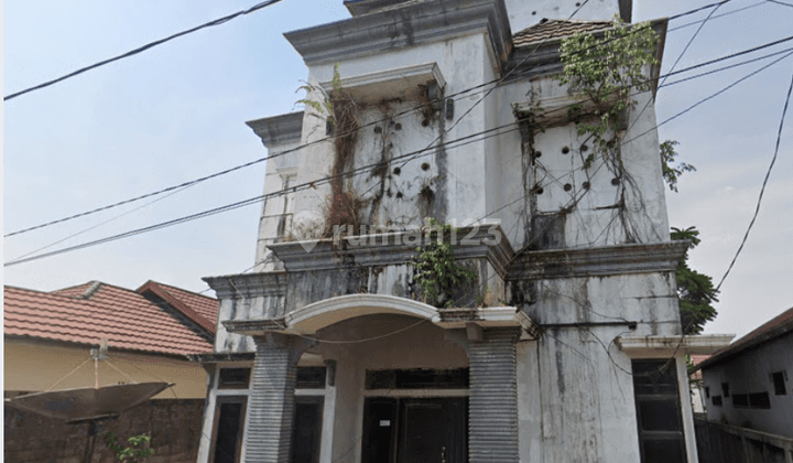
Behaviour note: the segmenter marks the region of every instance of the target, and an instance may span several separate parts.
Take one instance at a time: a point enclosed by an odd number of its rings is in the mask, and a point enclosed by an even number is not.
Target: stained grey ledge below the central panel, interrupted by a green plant
[[[334,245],[333,238],[325,238],[317,240],[309,252],[304,248],[306,243],[302,241],[278,243],[269,245],[268,248],[283,262],[287,271],[338,269],[349,263],[362,267],[394,266],[412,261],[416,255],[415,249],[420,246],[419,243],[413,243],[414,240],[426,243],[426,236],[422,233],[419,238],[415,237],[416,233],[417,230],[403,230],[344,237],[339,238],[338,246]],[[471,233],[472,235],[468,236]],[[499,243],[488,245],[495,236],[501,237]],[[461,243],[464,238],[474,244],[454,246],[456,259],[486,258],[499,274],[507,274],[507,266],[514,251],[500,225],[485,223],[460,227],[457,239]]]

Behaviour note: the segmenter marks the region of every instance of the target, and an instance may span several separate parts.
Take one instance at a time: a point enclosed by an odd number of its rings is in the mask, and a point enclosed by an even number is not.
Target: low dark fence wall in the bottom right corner
[[[793,439],[695,419],[699,463],[793,463]]]

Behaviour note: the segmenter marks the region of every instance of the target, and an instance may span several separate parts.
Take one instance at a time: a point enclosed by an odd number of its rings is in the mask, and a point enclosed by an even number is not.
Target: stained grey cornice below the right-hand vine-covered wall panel
[[[674,271],[688,241],[526,251],[509,269],[509,280],[602,277]]]

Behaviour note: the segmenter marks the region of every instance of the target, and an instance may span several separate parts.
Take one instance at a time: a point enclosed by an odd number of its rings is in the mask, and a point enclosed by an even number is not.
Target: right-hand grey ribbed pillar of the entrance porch
[[[470,463],[518,463],[519,329],[486,330],[471,342],[468,398]]]

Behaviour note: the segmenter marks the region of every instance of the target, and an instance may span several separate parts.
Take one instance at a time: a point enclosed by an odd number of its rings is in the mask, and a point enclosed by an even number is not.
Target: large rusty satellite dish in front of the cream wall
[[[138,383],[64,389],[29,394],[9,399],[6,403],[45,417],[75,422],[116,417],[171,386],[172,383]]]

